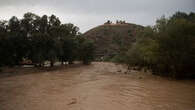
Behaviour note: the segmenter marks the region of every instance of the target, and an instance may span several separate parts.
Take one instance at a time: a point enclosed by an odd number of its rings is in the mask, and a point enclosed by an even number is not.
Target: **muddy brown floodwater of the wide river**
[[[195,110],[195,81],[93,63],[0,75],[0,110]],[[27,70],[25,70],[27,71]]]

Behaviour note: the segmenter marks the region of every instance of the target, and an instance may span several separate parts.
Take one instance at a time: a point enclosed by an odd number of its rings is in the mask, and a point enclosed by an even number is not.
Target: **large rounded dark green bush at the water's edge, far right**
[[[158,61],[163,65],[160,71],[169,75],[183,76],[194,72],[195,24],[187,19],[170,20],[164,33],[159,33]],[[163,60],[162,60],[163,59]],[[158,67],[157,67],[158,68]]]

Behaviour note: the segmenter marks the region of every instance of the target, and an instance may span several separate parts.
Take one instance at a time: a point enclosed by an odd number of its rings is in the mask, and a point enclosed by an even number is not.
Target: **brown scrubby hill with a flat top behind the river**
[[[87,31],[84,36],[94,41],[96,56],[114,56],[121,47],[127,47],[135,42],[137,30],[143,28],[143,26],[125,22],[105,23]]]

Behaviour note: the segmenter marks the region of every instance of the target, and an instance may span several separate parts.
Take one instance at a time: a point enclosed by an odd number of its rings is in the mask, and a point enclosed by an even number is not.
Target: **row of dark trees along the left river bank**
[[[13,16],[0,21],[0,66],[14,66],[30,61],[43,66],[49,61],[73,63],[82,60],[89,64],[93,59],[93,43],[79,33],[73,24],[62,24],[55,15],[42,17],[24,14],[22,19]]]

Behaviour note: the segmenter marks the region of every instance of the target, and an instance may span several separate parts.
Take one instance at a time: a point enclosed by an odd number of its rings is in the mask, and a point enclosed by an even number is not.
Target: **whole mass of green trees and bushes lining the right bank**
[[[195,13],[161,17],[155,26],[139,31],[136,42],[127,50],[120,52],[115,61],[159,75],[195,76]]]

